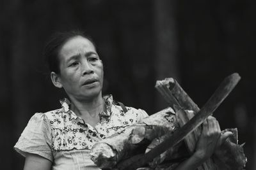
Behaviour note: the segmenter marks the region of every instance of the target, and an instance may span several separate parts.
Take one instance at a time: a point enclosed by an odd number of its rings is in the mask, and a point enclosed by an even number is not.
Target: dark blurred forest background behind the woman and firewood
[[[104,62],[104,94],[155,113],[167,104],[156,80],[176,78],[200,107],[231,73],[241,81],[214,115],[237,127],[246,169],[256,169],[256,1],[45,0],[0,2],[1,169],[22,169],[14,152],[35,112],[65,97],[49,79],[42,52],[56,31],[80,29]]]

